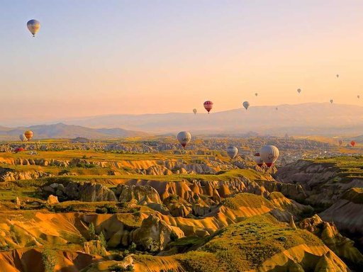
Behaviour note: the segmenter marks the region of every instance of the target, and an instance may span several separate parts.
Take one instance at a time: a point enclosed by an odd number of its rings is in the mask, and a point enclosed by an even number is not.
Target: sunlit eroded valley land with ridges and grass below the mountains
[[[240,149],[233,160],[230,142]],[[266,142],[281,146],[277,168],[252,162]],[[26,151],[13,153],[19,145]],[[181,151],[165,137],[0,149],[0,271],[363,269],[363,157],[333,142],[197,139]]]

